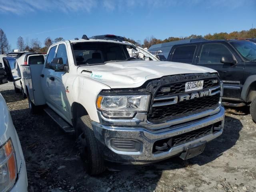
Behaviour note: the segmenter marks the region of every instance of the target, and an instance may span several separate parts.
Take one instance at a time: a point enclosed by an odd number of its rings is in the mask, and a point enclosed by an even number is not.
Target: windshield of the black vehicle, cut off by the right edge
[[[250,41],[230,42],[236,50],[247,60],[256,60],[256,43]]]

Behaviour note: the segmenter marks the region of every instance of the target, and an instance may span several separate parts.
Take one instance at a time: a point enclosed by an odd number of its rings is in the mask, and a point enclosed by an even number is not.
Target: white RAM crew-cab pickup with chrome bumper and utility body
[[[128,50],[142,53],[130,57]],[[23,65],[29,107],[44,106],[75,132],[89,174],[106,162],[192,158],[222,134],[222,82],[210,68],[161,62],[120,36],[50,46],[44,64]]]

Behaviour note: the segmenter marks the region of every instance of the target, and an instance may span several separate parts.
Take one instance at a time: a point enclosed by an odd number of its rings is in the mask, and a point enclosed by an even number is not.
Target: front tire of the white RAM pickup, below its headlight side
[[[92,120],[88,115],[77,120],[76,136],[86,172],[98,175],[105,171],[104,158],[99,150],[99,145],[92,129]]]

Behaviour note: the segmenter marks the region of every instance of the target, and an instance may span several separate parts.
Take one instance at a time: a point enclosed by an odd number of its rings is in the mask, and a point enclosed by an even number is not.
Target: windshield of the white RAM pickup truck
[[[77,65],[96,65],[136,59],[152,60],[131,45],[108,42],[81,42],[72,45]]]

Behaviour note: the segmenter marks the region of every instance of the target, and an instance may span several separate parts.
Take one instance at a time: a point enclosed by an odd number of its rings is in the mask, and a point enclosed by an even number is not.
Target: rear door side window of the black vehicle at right
[[[195,51],[196,45],[179,46],[174,50],[172,61],[192,64]]]

